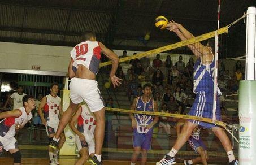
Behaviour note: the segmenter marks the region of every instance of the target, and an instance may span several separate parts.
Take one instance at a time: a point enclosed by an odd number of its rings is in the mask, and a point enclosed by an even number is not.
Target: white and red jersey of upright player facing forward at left
[[[53,97],[51,94],[46,95],[47,102],[44,106],[44,116],[46,121],[59,121],[59,110],[61,98]]]

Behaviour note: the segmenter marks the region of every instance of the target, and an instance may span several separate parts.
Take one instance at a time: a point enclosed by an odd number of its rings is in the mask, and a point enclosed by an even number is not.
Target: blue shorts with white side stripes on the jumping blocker
[[[196,98],[194,99],[193,106],[190,109],[188,115],[212,119],[212,108],[213,108],[213,94],[200,92],[196,94]],[[216,107],[215,114],[216,114],[216,120],[221,121],[222,118],[220,114],[219,97],[217,98],[217,107]],[[197,121],[197,120],[188,120],[188,121],[194,124],[201,125],[204,128],[217,127],[217,125],[215,124],[205,123],[203,121]]]

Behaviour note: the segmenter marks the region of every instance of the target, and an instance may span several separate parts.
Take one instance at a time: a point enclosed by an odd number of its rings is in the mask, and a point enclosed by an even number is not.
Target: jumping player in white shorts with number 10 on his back
[[[105,107],[103,98],[98,89],[96,74],[99,70],[99,62],[101,52],[112,60],[112,69],[110,71],[110,79],[114,88],[121,84],[121,79],[115,76],[118,68],[118,56],[107,49],[101,42],[96,41],[96,35],[92,31],[83,33],[82,41],[71,50],[71,60],[68,66],[68,75],[70,76],[70,106],[64,112],[60,120],[58,130],[50,143],[50,147],[55,148],[60,138],[60,133],[68,124],[72,114],[76,111],[77,105],[86,102],[90,111],[96,117],[97,124],[95,130],[95,154],[92,160],[95,164],[102,164],[101,150],[105,132]]]

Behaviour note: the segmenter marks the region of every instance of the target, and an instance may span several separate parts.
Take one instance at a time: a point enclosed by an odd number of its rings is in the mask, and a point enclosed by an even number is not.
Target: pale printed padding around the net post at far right
[[[255,164],[256,157],[256,81],[244,80],[239,85],[239,164]]]

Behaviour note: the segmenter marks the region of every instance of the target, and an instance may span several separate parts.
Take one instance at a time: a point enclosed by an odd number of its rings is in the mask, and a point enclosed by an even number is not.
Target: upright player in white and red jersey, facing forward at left
[[[58,128],[59,124],[59,115],[63,114],[60,102],[61,99],[58,97],[59,86],[57,83],[53,83],[50,86],[51,94],[46,95],[41,99],[41,103],[38,107],[38,114],[42,120],[42,124],[46,127],[46,132],[49,137],[49,142],[53,140],[54,134]],[[42,113],[44,110],[44,114]],[[59,164],[58,161],[58,152],[59,149],[63,146],[66,138],[64,133],[61,135],[61,140],[59,141],[58,148],[53,150],[51,147],[48,147],[50,164]]]

